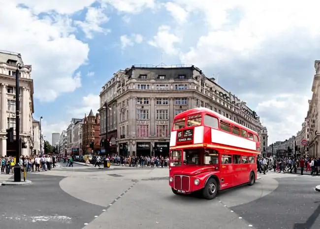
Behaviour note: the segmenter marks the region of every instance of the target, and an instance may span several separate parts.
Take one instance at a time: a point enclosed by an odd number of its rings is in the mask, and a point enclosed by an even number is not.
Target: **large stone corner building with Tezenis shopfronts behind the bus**
[[[194,65],[132,65],[114,73],[102,87],[101,142],[106,136],[110,139],[110,154],[167,156],[174,116],[200,106],[260,135],[262,126],[256,112]]]

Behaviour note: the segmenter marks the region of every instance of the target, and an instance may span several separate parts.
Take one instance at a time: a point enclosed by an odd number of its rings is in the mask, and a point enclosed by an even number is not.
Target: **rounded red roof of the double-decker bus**
[[[192,116],[192,115],[196,115],[199,113],[206,113],[206,114],[214,115],[216,117],[219,117],[220,120],[226,121],[226,122],[228,122],[230,124],[234,124],[236,126],[240,126],[243,130],[251,131],[251,132],[257,134],[256,131],[250,130],[249,128],[247,128],[237,122],[234,122],[231,119],[228,119],[228,118],[224,117],[223,115],[221,115],[213,110],[210,110],[209,108],[205,108],[205,107],[198,107],[198,108],[192,108],[190,110],[186,110],[184,112],[181,112],[180,114],[177,114],[176,117],[174,117],[174,119],[182,119],[182,118],[186,118],[187,116]]]

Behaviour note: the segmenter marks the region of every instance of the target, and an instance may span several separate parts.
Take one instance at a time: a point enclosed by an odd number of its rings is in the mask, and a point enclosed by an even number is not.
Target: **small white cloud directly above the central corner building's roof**
[[[174,47],[175,43],[180,43],[182,40],[173,33],[170,33],[169,26],[160,26],[158,33],[148,43],[154,47],[159,47],[169,55],[179,53],[179,50]]]

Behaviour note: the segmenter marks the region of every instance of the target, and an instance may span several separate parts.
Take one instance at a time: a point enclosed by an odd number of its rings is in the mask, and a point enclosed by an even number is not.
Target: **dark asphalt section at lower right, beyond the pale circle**
[[[319,178],[292,175],[277,181],[271,194],[232,210],[257,229],[319,229]]]

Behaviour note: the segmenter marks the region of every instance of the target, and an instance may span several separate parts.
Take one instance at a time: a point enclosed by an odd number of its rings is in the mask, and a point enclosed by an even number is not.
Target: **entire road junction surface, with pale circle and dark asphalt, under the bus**
[[[318,177],[269,173],[205,200],[172,194],[165,169],[83,167],[0,187],[0,229],[319,229]]]

